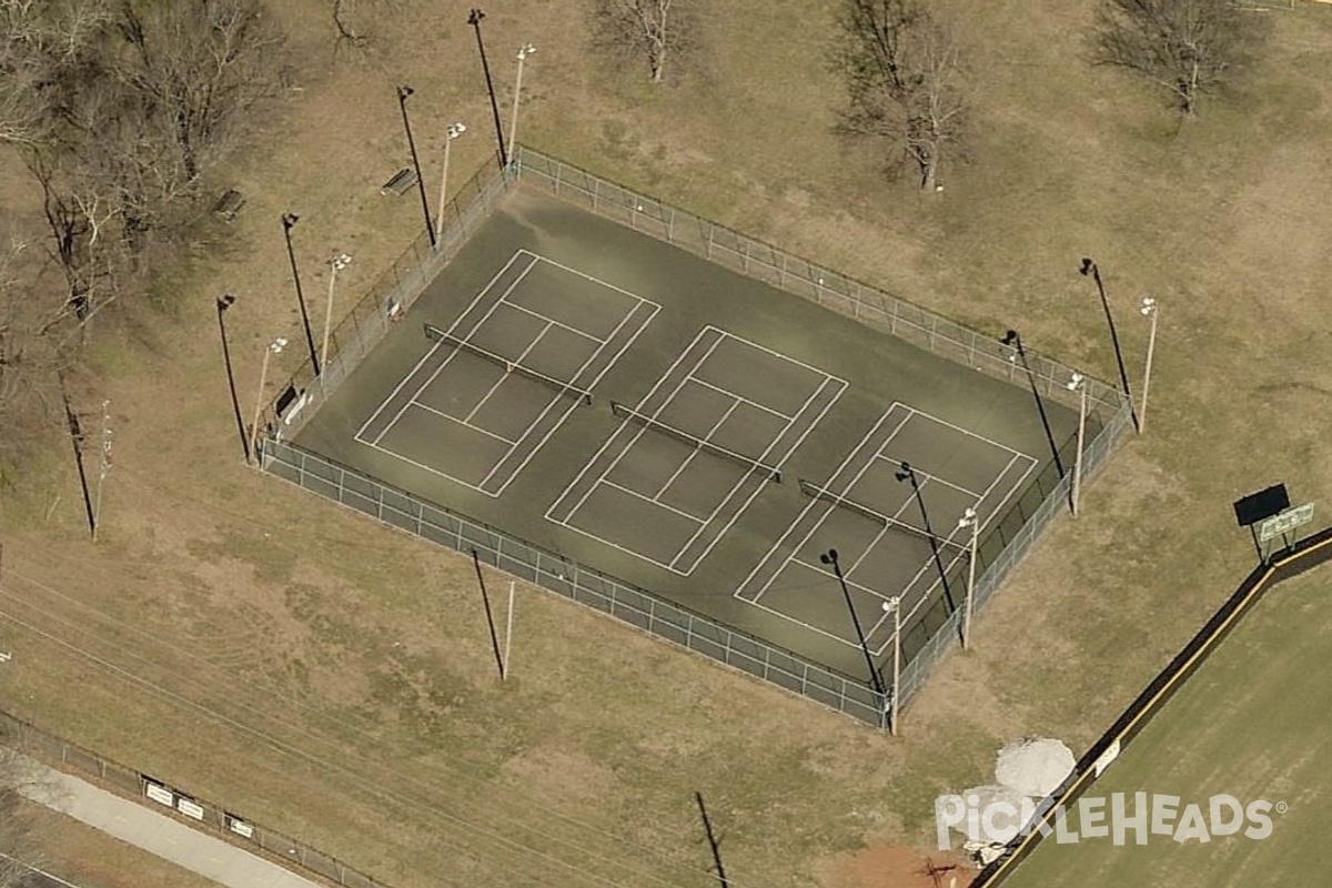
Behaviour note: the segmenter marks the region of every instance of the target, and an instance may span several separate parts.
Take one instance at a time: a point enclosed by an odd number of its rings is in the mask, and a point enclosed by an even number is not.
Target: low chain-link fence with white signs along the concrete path
[[[31,722],[24,722],[8,712],[0,712],[0,743],[57,771],[95,777],[101,785],[128,799],[157,809],[168,808],[182,823],[217,833],[241,848],[264,852],[274,861],[281,860],[284,865],[297,864],[328,879],[334,885],[384,888],[384,883],[352,869],[332,855],[310,848],[297,839],[269,829],[206,799],[170,787],[141,771],[48,734]]]

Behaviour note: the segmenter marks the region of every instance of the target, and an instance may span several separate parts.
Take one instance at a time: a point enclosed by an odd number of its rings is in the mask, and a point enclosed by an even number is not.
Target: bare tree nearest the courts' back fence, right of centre
[[[846,76],[842,128],[887,145],[935,190],[939,165],[966,134],[966,68],[947,27],[915,0],[846,0],[834,56]]]

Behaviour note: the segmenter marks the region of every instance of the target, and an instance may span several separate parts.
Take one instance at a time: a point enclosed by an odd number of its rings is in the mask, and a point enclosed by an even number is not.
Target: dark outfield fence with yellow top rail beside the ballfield
[[[1076,803],[1106,768],[1119,758],[1130,742],[1147,726],[1184,682],[1197,671],[1221,640],[1235,628],[1264,594],[1283,579],[1297,576],[1332,558],[1332,527],[1285,549],[1253,568],[1239,588],[1217,608],[1209,620],[1175,659],[1151,680],[1142,694],[1124,710],[1102,738],[1092,744],[1064,783],[1051,793],[1052,804],[1027,824],[1004,851],[1003,856],[987,865],[971,888],[998,888],[1020,867],[1022,861],[1040,845],[1046,831],[1054,829],[1056,813]]]

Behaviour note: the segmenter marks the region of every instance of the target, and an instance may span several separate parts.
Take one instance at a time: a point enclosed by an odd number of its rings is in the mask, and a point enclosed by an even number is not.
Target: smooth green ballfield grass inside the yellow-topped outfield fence
[[[1087,797],[1123,792],[1179,796],[1208,819],[1208,799],[1269,801],[1271,835],[1147,845],[1111,839],[1046,841],[1004,885],[1279,885],[1324,871],[1332,828],[1332,584],[1328,568],[1276,586],[1225,639]],[[1227,819],[1229,815],[1227,815]],[[1176,817],[1175,823],[1179,824]],[[1205,821],[1205,820],[1204,820]],[[1078,829],[1078,819],[1070,817]],[[1131,833],[1130,833],[1131,836]]]

